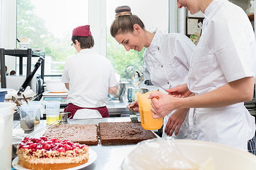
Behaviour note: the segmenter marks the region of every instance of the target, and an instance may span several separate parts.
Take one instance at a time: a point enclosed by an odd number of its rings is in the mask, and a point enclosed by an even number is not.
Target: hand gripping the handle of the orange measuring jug
[[[174,100],[177,98],[164,94],[163,92],[151,92],[148,99],[151,99],[153,118],[163,118],[176,109]]]

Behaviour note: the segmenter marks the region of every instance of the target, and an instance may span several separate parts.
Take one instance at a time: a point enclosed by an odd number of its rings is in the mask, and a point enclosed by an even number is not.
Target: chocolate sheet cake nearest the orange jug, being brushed
[[[102,145],[138,143],[156,138],[152,131],[144,130],[140,122],[100,122],[98,125]]]

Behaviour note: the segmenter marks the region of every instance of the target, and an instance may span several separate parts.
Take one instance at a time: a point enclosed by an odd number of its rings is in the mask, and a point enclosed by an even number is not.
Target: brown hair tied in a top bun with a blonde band
[[[115,20],[110,27],[110,33],[115,37],[118,33],[133,32],[133,25],[138,24],[142,29],[144,24],[137,15],[131,14],[129,6],[118,6],[115,8]]]

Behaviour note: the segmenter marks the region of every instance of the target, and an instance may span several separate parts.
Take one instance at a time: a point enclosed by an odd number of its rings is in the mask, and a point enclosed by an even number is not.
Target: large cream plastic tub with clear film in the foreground
[[[219,143],[176,139],[172,140],[176,147],[166,147],[168,140],[152,139],[139,143],[133,151],[123,160],[121,165],[122,170],[128,169],[160,169],[161,165],[170,165],[171,158],[174,158],[173,151],[170,148],[182,152],[185,158],[192,159],[193,162],[203,165],[207,160],[212,159],[214,169],[232,169],[232,170],[253,170],[256,167],[256,156],[238,150],[237,148],[222,145]],[[167,143],[168,144],[168,143]],[[169,152],[168,152],[169,150]],[[177,152],[179,154],[179,152]],[[166,159],[164,159],[166,158]],[[175,157],[173,160],[179,159]],[[164,160],[164,161],[163,161]],[[168,161],[169,160],[169,161]],[[145,164],[146,163],[146,164]],[[177,162],[179,164],[180,162]],[[167,165],[167,167],[168,167]],[[163,169],[172,169],[171,167]],[[204,168],[209,170],[210,167]]]

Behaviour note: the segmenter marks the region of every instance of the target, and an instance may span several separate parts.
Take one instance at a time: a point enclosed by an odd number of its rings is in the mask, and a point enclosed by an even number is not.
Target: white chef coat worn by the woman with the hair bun
[[[167,94],[165,89],[187,83],[189,65],[195,48],[193,42],[185,35],[156,32],[143,56],[152,84]],[[164,117],[163,129],[171,114]],[[166,136],[166,133],[163,133],[163,136]],[[188,115],[181,125],[177,138],[191,139]]]

